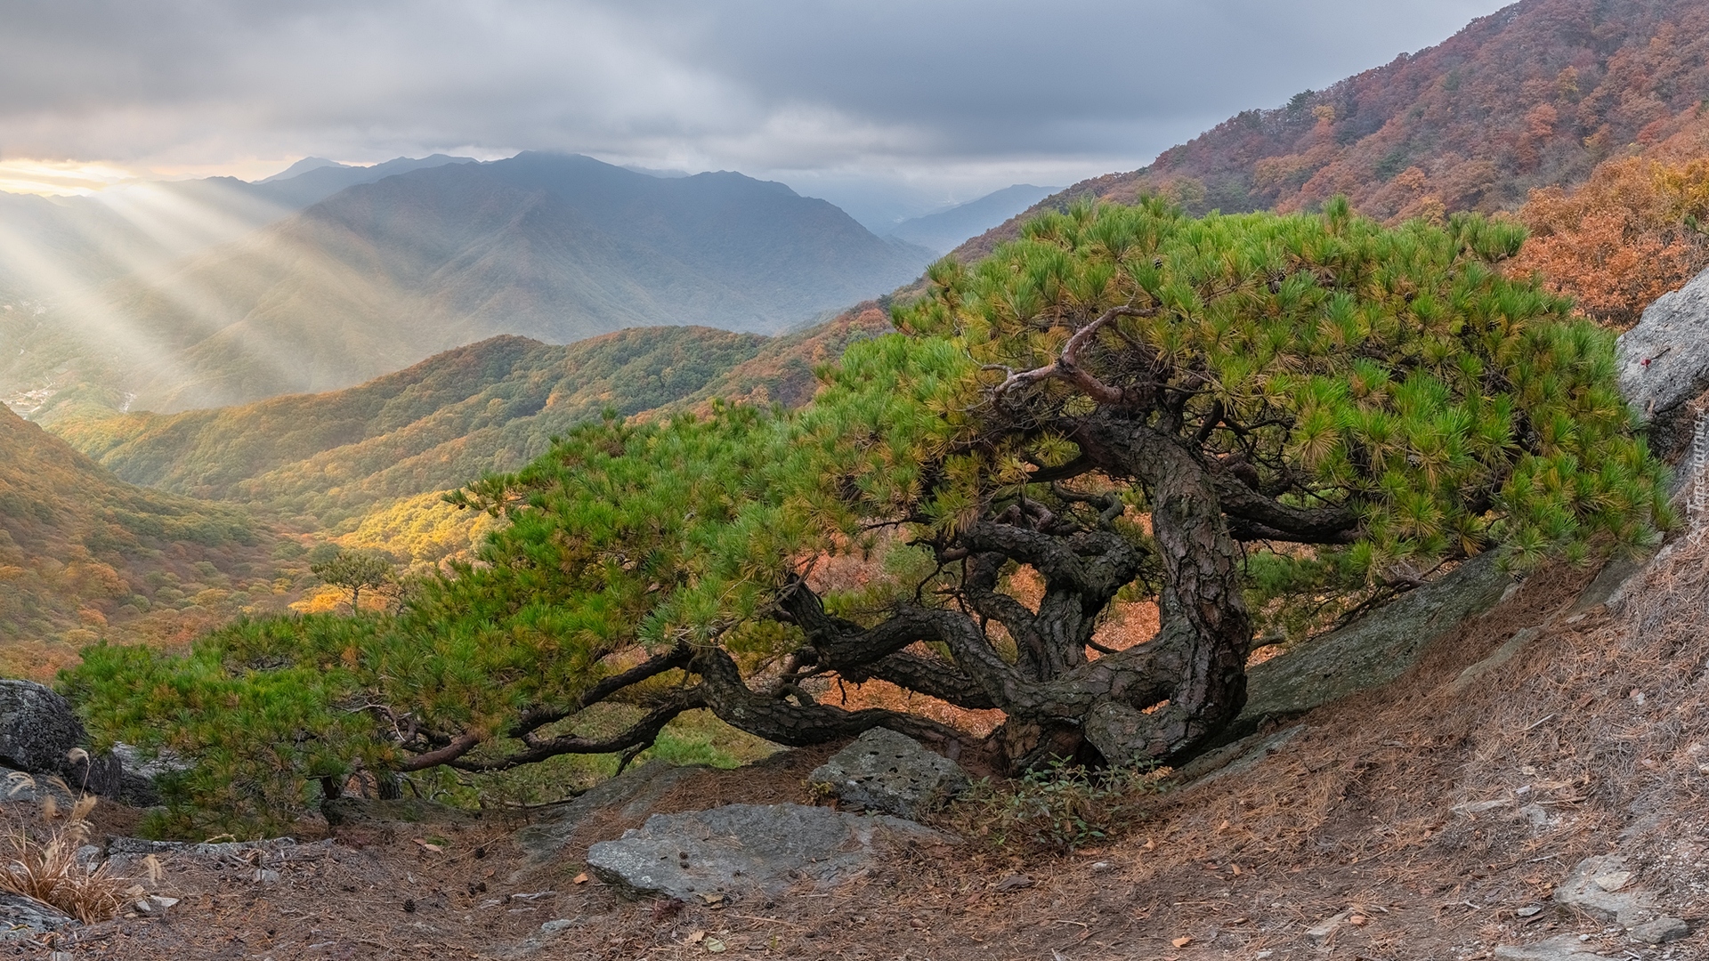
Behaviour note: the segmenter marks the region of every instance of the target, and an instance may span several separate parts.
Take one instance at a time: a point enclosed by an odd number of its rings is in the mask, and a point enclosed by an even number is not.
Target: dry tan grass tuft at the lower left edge
[[[77,848],[89,840],[89,812],[96,799],[82,797],[65,812],[65,822],[51,826],[44,838],[29,829],[14,828],[0,852],[0,891],[34,898],[84,923],[104,922],[125,906],[130,879],[115,877],[108,865],[85,865],[77,860]],[[44,821],[60,819],[51,799],[43,805]]]

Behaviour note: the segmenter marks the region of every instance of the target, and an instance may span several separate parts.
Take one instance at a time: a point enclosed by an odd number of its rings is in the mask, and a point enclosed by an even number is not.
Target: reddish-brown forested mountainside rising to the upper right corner
[[[1535,186],[1584,181],[1612,156],[1670,140],[1704,152],[1706,99],[1709,7],[1699,0],[1523,0],[1042,205],[1164,190],[1193,212],[1294,210],[1336,193],[1374,217],[1509,209]],[[955,253],[978,258],[1013,229]]]

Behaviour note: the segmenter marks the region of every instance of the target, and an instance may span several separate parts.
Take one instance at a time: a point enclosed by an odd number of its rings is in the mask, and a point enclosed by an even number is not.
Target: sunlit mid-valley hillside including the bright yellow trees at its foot
[[[663,417],[719,398],[803,404],[819,364],[889,328],[865,304],[788,337],[697,327],[569,345],[494,337],[342,392],[183,414],[89,407],[50,427],[125,480],[241,503],[403,563],[439,561],[467,554],[482,530],[443,491],[514,470],[607,410]]]

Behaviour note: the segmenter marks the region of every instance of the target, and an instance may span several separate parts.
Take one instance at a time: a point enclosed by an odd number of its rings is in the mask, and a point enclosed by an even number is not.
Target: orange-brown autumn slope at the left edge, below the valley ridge
[[[183,640],[272,598],[273,535],[244,513],[125,484],[3,407],[0,451],[0,674],[101,636]]]

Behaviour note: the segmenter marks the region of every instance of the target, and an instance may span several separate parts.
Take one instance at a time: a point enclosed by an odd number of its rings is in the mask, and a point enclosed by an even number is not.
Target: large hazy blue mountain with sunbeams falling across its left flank
[[[337,168],[321,168],[297,180]],[[123,328],[135,407],[335,390],[494,333],[776,332],[913,279],[930,253],[733,173],[523,154],[361,185],[67,321]]]

